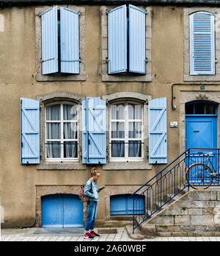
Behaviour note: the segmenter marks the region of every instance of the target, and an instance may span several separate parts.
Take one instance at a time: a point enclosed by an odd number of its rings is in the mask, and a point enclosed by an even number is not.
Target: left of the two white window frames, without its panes
[[[56,121],[48,121],[46,120],[46,110],[47,110],[47,107],[48,106],[51,106],[51,105],[55,105],[55,104],[59,104],[60,105],[60,120],[56,120]],[[63,120],[63,105],[64,104],[69,104],[69,105],[72,105],[72,106],[77,106],[77,118],[76,120]],[[64,162],[68,162],[68,161],[78,161],[78,157],[64,157],[64,142],[66,141],[76,141],[78,143],[78,135],[79,135],[79,132],[78,132],[78,127],[79,127],[79,122],[78,122],[78,113],[79,113],[79,106],[78,104],[74,104],[74,103],[71,103],[71,102],[65,102],[65,101],[62,101],[62,102],[52,102],[50,104],[46,104],[45,106],[45,143],[48,143],[48,142],[61,142],[61,157],[58,158],[58,157],[53,157],[53,158],[49,158],[47,157],[47,147],[46,147],[46,144],[45,144],[45,161],[46,162],[56,162],[56,161],[64,161]],[[48,123],[60,123],[60,131],[61,131],[61,134],[60,134],[60,139],[47,139],[47,124]],[[63,127],[64,127],[64,123],[77,123],[77,139],[64,139],[64,132],[63,132]],[[77,156],[79,156],[79,146],[77,146]]]

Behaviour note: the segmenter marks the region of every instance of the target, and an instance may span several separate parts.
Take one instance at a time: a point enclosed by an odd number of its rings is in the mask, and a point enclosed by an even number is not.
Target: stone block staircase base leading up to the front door
[[[182,191],[158,213],[148,218],[133,234],[133,239],[155,236],[220,236],[220,189]]]

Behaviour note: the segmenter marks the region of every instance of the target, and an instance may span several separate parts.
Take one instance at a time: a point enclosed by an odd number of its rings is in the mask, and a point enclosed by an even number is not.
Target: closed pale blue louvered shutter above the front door
[[[190,74],[215,74],[215,28],[212,13],[190,15]]]

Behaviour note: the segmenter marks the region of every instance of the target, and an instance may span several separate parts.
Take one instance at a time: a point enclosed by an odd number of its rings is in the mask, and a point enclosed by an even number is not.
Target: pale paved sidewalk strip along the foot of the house
[[[67,235],[37,235],[31,232],[20,232],[4,234],[1,230],[1,241],[87,241],[79,236]],[[124,227],[117,228],[117,234],[103,234],[100,238],[94,238],[92,241],[220,241],[220,237],[157,237],[152,239],[133,240],[129,238]],[[92,242],[91,241],[91,242]]]

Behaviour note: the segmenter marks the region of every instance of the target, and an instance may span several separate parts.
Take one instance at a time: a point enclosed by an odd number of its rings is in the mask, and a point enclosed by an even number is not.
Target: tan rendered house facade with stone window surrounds
[[[144,72],[129,73],[126,70],[123,74],[111,74],[108,13],[124,5],[128,8],[129,4],[144,13]],[[130,221],[131,193],[164,168],[166,163],[184,152],[191,143],[186,133],[186,104],[198,103],[199,115],[215,115],[212,118],[217,118],[217,125],[213,132],[216,132],[218,139],[213,146],[219,146],[218,1],[212,1],[211,6],[209,1],[194,1],[192,4],[192,1],[147,0],[94,0],[77,1],[74,4],[73,1],[0,1],[0,5],[0,184],[1,205],[4,207],[2,227],[42,227],[43,221],[51,221],[48,220],[47,213],[57,207],[62,207],[62,212],[66,209],[63,206],[65,203],[67,212],[76,210],[79,214],[76,218],[82,218],[84,221],[86,206],[78,205],[75,209],[74,204],[80,186],[89,179],[89,171],[93,166],[100,171],[99,185],[106,187],[100,192],[98,222],[106,224],[111,221]],[[59,12],[62,10],[78,13],[78,73],[67,74],[66,71],[58,71],[54,72],[56,74],[43,74],[44,63],[53,60],[53,57],[43,59],[45,39],[42,17],[54,7],[57,7],[58,24],[62,22],[62,17],[59,18]],[[129,24],[135,22],[128,10],[126,12]],[[191,75],[189,17],[191,14],[202,12],[215,18],[215,27],[211,27],[215,35],[215,47],[212,49],[215,53],[212,64],[215,65],[215,71],[214,74]],[[133,48],[129,35],[132,35],[132,30],[126,30],[125,33],[127,32],[125,39],[130,44],[124,46],[126,53],[131,56]],[[62,33],[64,30],[60,35],[63,35]],[[136,49],[139,49],[139,46],[136,46]],[[126,61],[128,62],[128,59]],[[128,65],[132,61],[129,62]],[[88,97],[100,98],[106,102],[106,163],[102,164],[83,163],[85,149],[82,143],[82,104]],[[39,163],[21,163],[21,99],[39,102]],[[155,99],[165,99],[166,102],[166,108],[163,106],[166,110],[166,124],[164,123],[163,127],[166,152],[161,153],[164,162],[149,160],[152,153],[149,138],[149,104]],[[62,112],[58,119],[54,115],[57,106]],[[74,109],[71,112],[72,109],[70,111],[68,106],[76,106],[77,112],[74,114]],[[122,112],[119,106],[122,106]],[[202,106],[212,106],[206,108],[210,113],[203,113]],[[65,109],[70,111],[67,115],[74,115],[72,119],[65,118]],[[137,113],[132,112],[133,118],[129,118],[130,111],[134,109]],[[54,115],[54,118],[49,118],[49,113]],[[126,116],[117,116],[114,119],[112,113],[125,113]],[[131,127],[141,127],[137,128],[133,135],[129,132],[134,132],[134,129],[128,129],[132,121]],[[176,122],[175,126],[172,125],[173,121]],[[67,132],[65,137],[67,124],[75,127],[75,133],[70,135]],[[116,124],[123,128],[112,132],[112,127]],[[50,133],[50,127],[56,128],[51,128]],[[57,131],[60,136],[54,135]],[[66,138],[69,141],[65,140]],[[54,142],[59,142],[60,154],[57,153],[56,146],[49,148],[48,144],[53,142],[53,139]],[[129,144],[132,139],[134,144],[136,141],[141,144],[139,151]],[[119,141],[124,143],[124,148],[117,144],[112,146]],[[71,148],[71,157],[67,157],[67,142],[75,143],[75,147]],[[122,154],[117,152],[119,148]],[[54,202],[54,205],[51,202]],[[62,202],[62,206],[59,202]],[[70,208],[69,204],[72,204]]]

